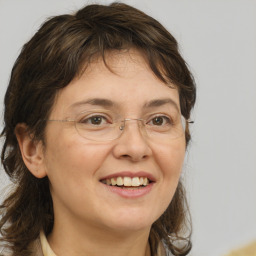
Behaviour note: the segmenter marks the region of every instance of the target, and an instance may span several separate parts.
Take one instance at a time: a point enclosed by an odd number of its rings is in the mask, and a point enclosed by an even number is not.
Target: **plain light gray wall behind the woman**
[[[190,255],[223,255],[255,240],[256,1],[123,2],[151,14],[173,33],[197,81],[193,140],[183,173],[193,218]],[[86,3],[0,0],[1,118],[10,71],[21,46],[47,17]],[[0,178],[2,189],[8,181],[2,171]]]

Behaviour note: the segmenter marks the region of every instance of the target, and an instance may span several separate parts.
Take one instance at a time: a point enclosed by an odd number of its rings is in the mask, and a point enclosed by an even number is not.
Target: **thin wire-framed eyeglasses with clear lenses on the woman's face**
[[[128,122],[136,121],[143,135],[159,142],[184,136],[186,124],[193,123],[179,113],[154,113],[145,118],[122,118],[114,112],[105,110],[85,111],[72,120],[47,121],[73,123],[81,137],[99,142],[118,139]]]

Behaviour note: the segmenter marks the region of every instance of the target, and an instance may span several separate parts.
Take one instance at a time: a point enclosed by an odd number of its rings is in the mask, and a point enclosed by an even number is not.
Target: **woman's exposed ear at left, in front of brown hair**
[[[15,128],[16,138],[19,143],[21,155],[28,170],[37,178],[46,176],[44,165],[44,151],[42,141],[33,139],[24,123],[17,124]]]

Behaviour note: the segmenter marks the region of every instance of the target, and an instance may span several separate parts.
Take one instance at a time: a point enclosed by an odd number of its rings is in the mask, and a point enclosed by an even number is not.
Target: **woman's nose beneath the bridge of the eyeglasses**
[[[141,119],[124,120],[123,126],[120,127],[123,131],[122,135],[116,140],[113,148],[116,158],[138,162],[152,155],[151,147],[141,126],[143,126]]]

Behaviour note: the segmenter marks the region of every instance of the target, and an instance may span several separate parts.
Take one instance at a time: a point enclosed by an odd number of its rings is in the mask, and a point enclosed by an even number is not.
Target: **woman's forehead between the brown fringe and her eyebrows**
[[[159,80],[135,50],[108,53],[106,63],[101,58],[90,62],[80,76],[59,91],[53,112],[58,116],[72,114],[83,110],[88,102],[95,103],[94,99],[105,100],[111,103],[103,104],[105,107],[113,105],[120,111],[136,111],[153,101],[151,106],[157,106],[163,99],[180,108],[177,88]]]

